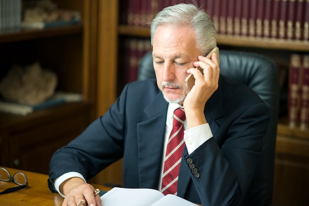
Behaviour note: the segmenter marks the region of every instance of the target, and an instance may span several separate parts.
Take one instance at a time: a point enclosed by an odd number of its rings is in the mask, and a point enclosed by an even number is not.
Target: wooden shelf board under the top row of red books
[[[120,35],[149,37],[149,27],[136,27],[120,25],[118,27]],[[237,47],[254,47],[265,49],[280,49],[290,51],[309,51],[309,41],[275,39],[250,36],[233,36],[226,34],[217,34],[217,43],[219,45],[237,46]]]

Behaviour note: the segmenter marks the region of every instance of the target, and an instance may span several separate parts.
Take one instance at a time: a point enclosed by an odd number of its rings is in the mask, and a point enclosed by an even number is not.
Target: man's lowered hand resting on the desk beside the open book
[[[62,206],[78,206],[81,200],[85,200],[88,206],[101,206],[100,196],[94,196],[94,190],[91,184],[81,178],[70,178],[60,185],[60,191],[66,196]]]

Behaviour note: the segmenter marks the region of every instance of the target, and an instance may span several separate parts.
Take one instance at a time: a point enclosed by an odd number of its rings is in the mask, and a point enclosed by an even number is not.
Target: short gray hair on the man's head
[[[169,24],[190,26],[195,33],[196,47],[204,56],[217,46],[215,25],[206,11],[199,9],[196,5],[180,3],[162,9],[151,23],[150,34],[152,45],[156,28],[160,25]]]

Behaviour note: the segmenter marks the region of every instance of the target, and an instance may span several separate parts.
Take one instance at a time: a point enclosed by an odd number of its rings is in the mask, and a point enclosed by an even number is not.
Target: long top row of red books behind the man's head
[[[188,0],[122,0],[120,24],[149,26],[164,7]],[[218,34],[309,40],[309,0],[195,0]]]

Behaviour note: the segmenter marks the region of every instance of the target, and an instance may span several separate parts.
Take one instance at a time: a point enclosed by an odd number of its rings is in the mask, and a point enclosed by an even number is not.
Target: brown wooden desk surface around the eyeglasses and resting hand
[[[27,172],[11,168],[5,168],[14,175],[15,172],[26,174],[29,187],[12,193],[0,195],[1,206],[61,206],[63,197],[58,193],[51,193],[47,186],[48,175],[35,172]],[[0,181],[0,191],[9,187],[17,186],[13,182]],[[100,190],[109,190],[110,188],[94,185]]]

